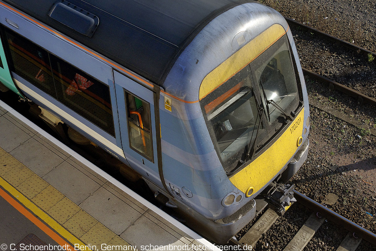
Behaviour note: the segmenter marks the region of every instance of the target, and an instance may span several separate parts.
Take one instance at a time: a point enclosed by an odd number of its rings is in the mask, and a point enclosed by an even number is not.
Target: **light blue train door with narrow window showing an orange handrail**
[[[114,80],[124,155],[133,169],[160,183],[154,93],[117,71]]]

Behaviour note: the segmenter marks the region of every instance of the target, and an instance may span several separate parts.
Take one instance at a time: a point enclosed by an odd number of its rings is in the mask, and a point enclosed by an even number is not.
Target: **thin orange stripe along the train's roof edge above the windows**
[[[47,26],[44,26],[43,24],[38,23],[37,21],[33,20],[32,18],[27,17],[26,15],[22,14],[21,12],[15,10],[15,9],[13,9],[13,8],[11,8],[9,5],[7,5],[7,4],[5,4],[5,3],[2,3],[2,2],[0,2],[0,4],[3,5],[3,6],[5,6],[5,7],[8,8],[8,9],[10,9],[11,11],[14,11],[14,12],[16,12],[17,14],[23,16],[24,18],[27,18],[28,20],[32,21],[33,23],[38,24],[39,26],[43,27],[44,29],[49,30],[50,32],[56,34],[58,37],[63,38],[64,40],[67,40],[68,42],[70,42],[70,43],[76,45],[77,47],[80,47],[81,49],[85,50],[86,52],[90,53],[91,55],[94,55],[94,56],[96,56],[97,58],[100,58],[100,59],[102,59],[103,61],[107,62],[108,64],[111,64],[112,66],[118,68],[119,70],[121,70],[121,71],[123,71],[123,72],[129,74],[129,75],[132,76],[133,78],[138,79],[139,81],[141,81],[141,82],[143,82],[143,83],[149,85],[150,87],[154,87],[154,85],[150,84],[149,82],[145,81],[144,79],[139,78],[138,76],[136,76],[136,75],[130,73],[129,71],[125,70],[124,68],[122,68],[122,67],[120,67],[120,66],[118,66],[118,65],[116,65],[116,64],[114,64],[114,63],[112,63],[112,62],[110,62],[110,61],[108,61],[107,59],[103,58],[102,56],[98,55],[97,53],[94,53],[94,52],[92,52],[91,50],[88,50],[88,49],[86,49],[85,47],[80,46],[79,44],[77,44],[77,43],[75,43],[74,41],[68,39],[67,37],[65,37],[65,36],[63,36],[63,35],[61,35],[61,34],[59,34],[58,32],[55,32],[54,30],[48,28]],[[179,100],[179,101],[181,101],[181,102],[184,102],[184,103],[196,103],[196,102],[199,102],[199,100],[196,100],[196,101],[185,101],[185,100],[179,99],[178,97],[175,97],[175,96],[173,96],[173,95],[171,95],[171,94],[169,94],[169,93],[166,93],[165,91],[161,91],[161,92],[167,94],[167,95],[170,96],[170,97],[173,97],[174,99],[177,99],[177,100]]]

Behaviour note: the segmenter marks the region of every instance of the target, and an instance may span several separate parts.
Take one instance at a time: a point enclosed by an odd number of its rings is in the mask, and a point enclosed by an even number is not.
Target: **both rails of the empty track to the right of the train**
[[[367,50],[365,48],[362,48],[360,46],[357,46],[355,44],[352,44],[352,43],[349,43],[347,41],[344,41],[340,38],[337,38],[337,37],[334,37],[330,34],[327,34],[327,33],[324,33],[320,30],[317,30],[313,27],[309,27],[309,26],[306,26],[305,24],[302,24],[302,23],[299,23],[295,20],[292,20],[290,18],[287,18],[285,17],[285,19],[287,20],[287,23],[290,25],[290,26],[295,26],[295,27],[299,27],[300,29],[302,30],[305,30],[306,32],[311,32],[311,33],[314,33],[314,34],[317,34],[321,37],[324,37],[326,40],[329,40],[329,41],[332,41],[338,45],[341,45],[343,47],[346,47],[350,50],[353,50],[354,52],[357,52],[359,54],[363,54],[365,56],[371,54],[373,55],[374,57],[376,57],[376,53],[370,51],[370,50]],[[356,91],[352,88],[349,88],[347,87],[346,85],[343,85],[343,84],[340,84],[336,81],[333,81],[329,78],[326,78],[320,74],[317,74],[311,70],[308,70],[304,67],[302,67],[302,70],[303,70],[303,74],[305,76],[309,76],[311,78],[314,78],[316,80],[318,80],[319,82],[323,83],[323,84],[326,84],[331,90],[338,90],[338,91],[341,91],[343,93],[346,93],[352,97],[355,97],[356,99],[358,99],[358,102],[359,103],[369,103],[371,105],[375,105],[376,106],[376,99],[374,99],[373,97],[369,97],[367,95],[364,95],[362,94],[361,92],[359,91]]]

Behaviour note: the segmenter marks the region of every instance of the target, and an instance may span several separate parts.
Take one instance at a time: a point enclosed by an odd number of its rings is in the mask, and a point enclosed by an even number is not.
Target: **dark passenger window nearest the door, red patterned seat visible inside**
[[[58,100],[115,137],[110,89],[50,54]]]

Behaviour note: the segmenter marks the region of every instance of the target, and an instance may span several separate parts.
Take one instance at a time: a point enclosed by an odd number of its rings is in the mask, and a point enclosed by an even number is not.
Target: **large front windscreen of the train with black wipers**
[[[230,173],[252,158],[255,152],[252,147],[261,148],[283,125],[290,123],[286,114],[299,106],[287,36],[281,37],[200,103],[214,147],[224,169]]]

